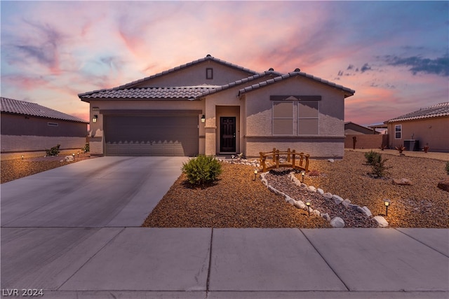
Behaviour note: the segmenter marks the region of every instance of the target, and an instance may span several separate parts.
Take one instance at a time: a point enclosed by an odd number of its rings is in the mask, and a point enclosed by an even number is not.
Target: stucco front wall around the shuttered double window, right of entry
[[[297,134],[297,103],[293,105],[293,135],[272,136],[272,101],[270,95],[321,96],[319,101],[319,134]],[[293,77],[283,82],[248,92],[244,99],[246,111],[245,148],[247,156],[272,148],[295,149],[315,158],[344,155],[344,95],[340,90],[307,78]],[[294,101],[295,102],[295,101]],[[296,101],[297,102],[297,101]],[[262,138],[264,137],[264,138]]]

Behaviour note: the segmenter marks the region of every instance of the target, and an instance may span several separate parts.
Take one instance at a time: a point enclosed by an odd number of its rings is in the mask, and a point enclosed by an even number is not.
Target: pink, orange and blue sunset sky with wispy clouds
[[[1,96],[88,120],[81,92],[207,54],[356,90],[369,125],[449,100],[448,1],[1,1]]]

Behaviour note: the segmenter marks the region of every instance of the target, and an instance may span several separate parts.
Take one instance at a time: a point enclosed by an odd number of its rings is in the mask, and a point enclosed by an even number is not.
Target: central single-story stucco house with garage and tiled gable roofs
[[[273,148],[344,155],[344,99],[354,90],[301,72],[256,72],[207,55],[117,88],[91,106],[91,154],[257,157]]]

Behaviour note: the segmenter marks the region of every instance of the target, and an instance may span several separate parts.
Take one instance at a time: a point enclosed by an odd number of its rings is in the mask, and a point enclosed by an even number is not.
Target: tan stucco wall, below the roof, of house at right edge
[[[394,127],[402,125],[402,138],[396,139]],[[430,146],[430,151],[449,152],[449,117],[427,118],[389,123],[389,145],[391,148],[403,145],[407,139],[420,141],[420,149]]]

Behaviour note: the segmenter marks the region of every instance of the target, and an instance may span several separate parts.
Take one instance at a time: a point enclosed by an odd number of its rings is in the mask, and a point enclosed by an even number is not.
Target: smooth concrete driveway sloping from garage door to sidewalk
[[[1,227],[140,226],[185,157],[103,157],[1,185]]]

